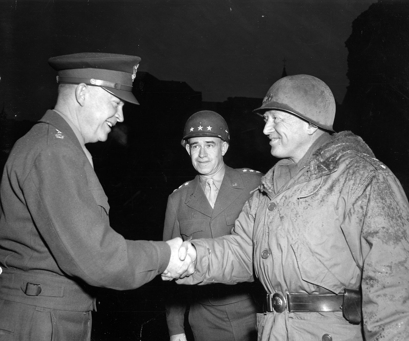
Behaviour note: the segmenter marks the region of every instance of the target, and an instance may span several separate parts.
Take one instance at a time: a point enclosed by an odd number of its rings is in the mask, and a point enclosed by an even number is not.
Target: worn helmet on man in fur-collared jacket
[[[277,80],[267,91],[261,107],[254,111],[268,109],[287,111],[322,129],[334,131],[334,96],[328,85],[317,77],[294,75]]]

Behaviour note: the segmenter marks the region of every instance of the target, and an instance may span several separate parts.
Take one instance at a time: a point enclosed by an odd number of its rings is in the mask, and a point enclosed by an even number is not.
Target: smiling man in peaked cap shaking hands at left
[[[131,91],[139,60],[49,59],[56,106],[16,142],[0,185],[1,340],[90,340],[94,287],[138,288],[165,269],[189,274],[177,254],[181,238],[129,241],[112,230],[85,148],[124,120],[124,102],[138,103]]]

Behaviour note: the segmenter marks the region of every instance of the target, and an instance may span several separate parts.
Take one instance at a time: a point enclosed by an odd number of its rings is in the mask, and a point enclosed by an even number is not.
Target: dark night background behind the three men
[[[125,105],[107,142],[87,145],[126,238],[161,239],[168,195],[195,175],[180,140],[200,109],[225,117],[229,166],[267,172],[276,160],[252,109],[283,73],[324,80],[335,130],[362,136],[408,191],[408,30],[407,1],[0,0],[0,166],[55,103],[47,59],[101,51],[142,58],[140,105]],[[101,289],[92,339],[167,340],[173,290],[159,278]]]

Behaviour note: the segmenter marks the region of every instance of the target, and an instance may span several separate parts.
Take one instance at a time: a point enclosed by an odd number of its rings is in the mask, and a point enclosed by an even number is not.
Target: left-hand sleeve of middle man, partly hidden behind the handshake
[[[163,240],[167,241],[175,237],[181,237],[178,215],[171,196],[168,198],[166,206],[165,223],[163,227]],[[185,287],[176,287],[173,282],[168,283],[170,291],[166,299],[166,323],[169,335],[184,333],[184,313],[187,309],[187,296],[191,296],[190,290]]]

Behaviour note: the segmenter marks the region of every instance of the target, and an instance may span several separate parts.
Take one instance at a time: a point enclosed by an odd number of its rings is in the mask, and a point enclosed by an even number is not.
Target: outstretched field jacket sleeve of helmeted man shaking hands
[[[198,254],[193,275],[178,279],[178,284],[236,284],[252,282],[254,209],[247,201],[236,219],[231,234],[192,241]]]

